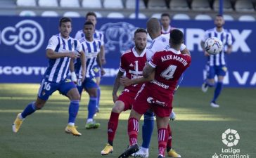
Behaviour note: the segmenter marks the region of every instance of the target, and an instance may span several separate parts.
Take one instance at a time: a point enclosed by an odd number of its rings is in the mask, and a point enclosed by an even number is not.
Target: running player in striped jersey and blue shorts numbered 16
[[[23,120],[36,110],[44,107],[54,91],[60,91],[61,94],[70,99],[68,126],[65,128],[66,133],[72,133],[75,136],[81,136],[81,133],[75,128],[75,118],[79,109],[79,92],[76,85],[67,79],[69,72],[70,58],[81,58],[82,63],[82,80],[85,75],[85,57],[82,46],[70,37],[72,24],[70,18],[61,18],[59,22],[60,34],[53,35],[46,47],[46,57],[49,58],[49,66],[41,80],[37,100],[27,105],[22,113],[18,114],[13,123],[13,132],[17,133]],[[77,53],[79,52],[79,53]]]

